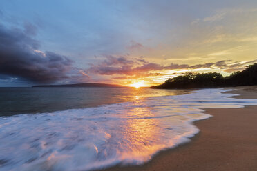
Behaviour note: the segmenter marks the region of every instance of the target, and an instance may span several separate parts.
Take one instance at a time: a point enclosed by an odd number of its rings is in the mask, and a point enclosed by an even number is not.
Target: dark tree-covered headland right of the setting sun
[[[257,85],[257,63],[248,66],[242,72],[234,72],[227,77],[223,77],[217,72],[187,72],[184,75],[168,79],[161,85],[151,86],[151,88],[216,88],[253,85]]]

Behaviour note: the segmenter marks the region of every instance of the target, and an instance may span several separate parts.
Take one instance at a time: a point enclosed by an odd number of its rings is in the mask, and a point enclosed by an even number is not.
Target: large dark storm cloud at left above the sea
[[[73,61],[53,52],[38,50],[39,42],[29,35],[36,28],[26,24],[25,30],[0,25],[0,74],[37,83],[66,79]]]

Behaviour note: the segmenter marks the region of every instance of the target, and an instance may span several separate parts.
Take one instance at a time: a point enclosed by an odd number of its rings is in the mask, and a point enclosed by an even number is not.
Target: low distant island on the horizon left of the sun
[[[61,85],[37,85],[32,86],[33,88],[40,87],[108,87],[108,88],[122,88],[125,86],[116,85],[116,84],[108,84],[108,83],[73,83],[73,84],[61,84]]]

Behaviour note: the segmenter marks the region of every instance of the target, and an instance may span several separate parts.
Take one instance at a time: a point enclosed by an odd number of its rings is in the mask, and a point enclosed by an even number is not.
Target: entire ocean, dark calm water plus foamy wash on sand
[[[224,89],[0,88],[0,170],[92,170],[142,164],[187,143],[211,117],[242,108]]]

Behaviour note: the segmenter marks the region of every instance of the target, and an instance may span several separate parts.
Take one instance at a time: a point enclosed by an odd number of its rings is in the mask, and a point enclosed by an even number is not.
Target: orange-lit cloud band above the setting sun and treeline
[[[122,60],[118,60],[120,58],[122,58]],[[124,61],[128,61],[128,63]],[[138,60],[138,58],[126,59],[125,57],[111,56],[106,57],[106,59],[99,64],[91,65],[86,72],[91,74],[113,76],[112,79],[144,79],[153,81],[153,79],[160,80],[172,77],[174,76],[174,71],[176,70],[180,74],[194,70],[201,70],[201,72],[217,72],[217,69],[223,72],[234,72],[243,70],[245,66],[249,65],[250,63],[254,63],[254,61],[233,62],[231,60],[221,60],[213,63],[200,63],[189,66],[188,64],[176,63],[162,65],[159,63],[146,61],[142,58]]]

